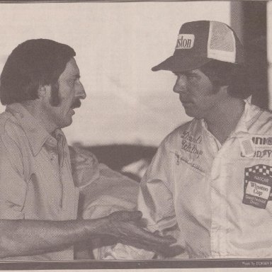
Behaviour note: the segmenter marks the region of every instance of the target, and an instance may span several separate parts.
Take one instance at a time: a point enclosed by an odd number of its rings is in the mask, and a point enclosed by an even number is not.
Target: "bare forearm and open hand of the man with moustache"
[[[0,220],[0,257],[42,254],[106,235],[123,244],[137,244],[157,252],[167,251],[176,240],[137,227],[132,221],[141,217],[138,211],[120,211],[96,220]]]

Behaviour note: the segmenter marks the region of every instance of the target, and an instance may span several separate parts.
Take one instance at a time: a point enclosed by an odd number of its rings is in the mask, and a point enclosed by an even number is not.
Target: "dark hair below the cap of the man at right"
[[[248,88],[246,67],[229,62],[211,60],[199,68],[214,86],[228,86],[228,94],[236,98],[251,95]]]

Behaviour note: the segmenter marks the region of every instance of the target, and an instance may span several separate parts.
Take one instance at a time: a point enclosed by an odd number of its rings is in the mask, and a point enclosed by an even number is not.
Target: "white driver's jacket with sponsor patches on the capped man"
[[[190,258],[271,258],[271,158],[271,113],[246,103],[223,145],[194,119],[160,145],[138,209],[153,231],[176,226]]]

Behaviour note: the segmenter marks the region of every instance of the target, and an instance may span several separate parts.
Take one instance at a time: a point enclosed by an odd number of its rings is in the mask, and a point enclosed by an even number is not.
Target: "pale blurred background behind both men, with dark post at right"
[[[181,24],[195,20],[234,28],[246,45],[252,101],[272,108],[270,1],[1,3],[0,70],[24,40],[72,46],[87,98],[64,129],[69,145],[139,180],[159,143],[189,120],[174,74],[151,67],[173,54]]]

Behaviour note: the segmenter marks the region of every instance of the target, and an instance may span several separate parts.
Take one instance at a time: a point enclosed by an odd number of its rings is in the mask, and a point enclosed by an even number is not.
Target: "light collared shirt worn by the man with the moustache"
[[[0,115],[0,218],[75,220],[78,198],[62,130],[52,137],[20,103],[7,106]],[[74,251],[13,259],[72,260]]]

